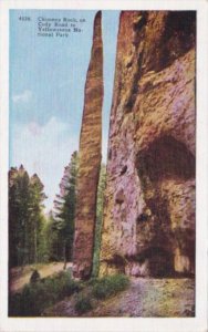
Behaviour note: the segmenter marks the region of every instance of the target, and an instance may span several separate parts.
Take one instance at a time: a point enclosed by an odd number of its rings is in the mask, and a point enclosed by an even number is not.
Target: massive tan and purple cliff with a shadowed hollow
[[[100,274],[195,272],[194,11],[121,14]]]

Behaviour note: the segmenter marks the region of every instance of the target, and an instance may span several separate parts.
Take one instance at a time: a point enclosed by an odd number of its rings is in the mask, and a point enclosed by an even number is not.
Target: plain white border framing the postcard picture
[[[196,318],[8,318],[9,9],[197,10]],[[206,332],[208,221],[208,2],[204,0],[1,0],[0,2],[0,331]]]

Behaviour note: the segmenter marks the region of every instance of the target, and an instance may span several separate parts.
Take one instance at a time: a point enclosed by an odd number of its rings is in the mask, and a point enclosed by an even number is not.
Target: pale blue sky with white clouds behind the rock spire
[[[10,167],[23,164],[30,176],[39,175],[48,196],[45,211],[53,207],[60,191],[64,166],[79,149],[95,14],[96,11],[86,10],[10,11]],[[118,17],[118,11],[103,11],[103,160],[106,160]],[[70,32],[67,38],[38,35],[40,20],[49,23],[45,19],[58,18],[61,22],[63,18],[75,19],[75,28],[81,32]]]

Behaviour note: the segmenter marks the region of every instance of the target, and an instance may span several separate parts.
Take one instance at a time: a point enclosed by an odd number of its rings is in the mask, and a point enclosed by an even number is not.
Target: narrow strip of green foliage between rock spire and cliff
[[[96,225],[95,225],[93,272],[92,272],[93,277],[97,277],[98,274],[105,185],[106,185],[106,166],[102,164],[101,172],[100,172],[100,179],[98,179],[98,188],[97,188],[97,200],[96,200]]]

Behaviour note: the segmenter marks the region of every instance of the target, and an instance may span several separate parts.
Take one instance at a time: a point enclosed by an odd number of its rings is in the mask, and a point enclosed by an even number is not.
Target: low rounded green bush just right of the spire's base
[[[125,290],[128,284],[129,280],[125,274],[107,276],[94,282],[92,293],[96,299],[106,299]]]

